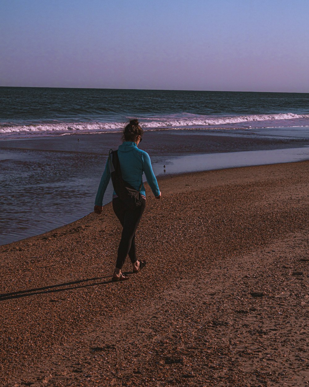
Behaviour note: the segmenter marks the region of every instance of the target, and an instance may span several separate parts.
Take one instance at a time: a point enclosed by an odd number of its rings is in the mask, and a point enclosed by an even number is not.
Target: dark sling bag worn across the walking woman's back
[[[140,190],[142,183],[139,187],[139,191],[132,187],[131,184],[123,180],[121,175],[121,168],[118,158],[118,151],[109,151],[109,170],[112,177],[112,183],[116,195],[129,209],[134,209],[142,204],[142,197]]]

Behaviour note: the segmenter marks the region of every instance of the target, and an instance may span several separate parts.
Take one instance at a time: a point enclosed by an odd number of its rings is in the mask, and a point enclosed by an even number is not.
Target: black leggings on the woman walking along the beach
[[[113,199],[113,209],[122,225],[121,240],[118,247],[116,268],[121,269],[127,255],[131,262],[136,262],[135,231],[138,228],[139,221],[143,215],[146,200],[142,199],[142,204],[133,210],[128,209],[122,201],[116,197]]]

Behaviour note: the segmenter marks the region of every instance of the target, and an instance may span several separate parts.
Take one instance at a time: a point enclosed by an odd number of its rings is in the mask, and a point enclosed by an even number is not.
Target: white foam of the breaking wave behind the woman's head
[[[144,129],[156,128],[186,128],[186,127],[227,127],[236,124],[248,123],[267,123],[266,127],[282,126],[286,120],[302,120],[309,123],[309,114],[294,113],[275,113],[260,115],[243,115],[243,116],[202,116],[183,113],[181,116],[166,115],[160,117],[148,117],[140,120]],[[280,125],[279,125],[280,123]],[[48,133],[76,133],[76,132],[113,132],[123,129],[125,122],[80,122],[80,123],[44,123],[32,125],[8,125],[0,127],[0,133],[17,134],[48,134]],[[294,124],[295,125],[295,124]],[[299,123],[299,126],[307,123]],[[241,125],[240,125],[241,126]]]

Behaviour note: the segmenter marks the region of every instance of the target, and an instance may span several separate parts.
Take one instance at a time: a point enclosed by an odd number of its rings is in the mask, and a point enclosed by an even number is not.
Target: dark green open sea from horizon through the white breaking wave
[[[309,126],[309,94],[0,87],[0,139],[119,131]]]

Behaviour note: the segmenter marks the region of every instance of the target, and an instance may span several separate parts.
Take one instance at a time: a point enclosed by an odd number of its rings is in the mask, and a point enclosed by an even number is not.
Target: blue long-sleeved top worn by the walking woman
[[[141,186],[141,195],[146,195],[143,184],[143,173],[147,183],[155,196],[160,195],[160,189],[155,174],[153,173],[150,157],[147,152],[138,149],[135,142],[125,141],[118,147],[118,158],[121,166],[123,180],[132,185],[136,190]],[[98,187],[95,205],[102,205],[103,197],[110,180],[108,159]],[[141,185],[142,183],[142,185]],[[114,192],[115,194],[115,192]]]

